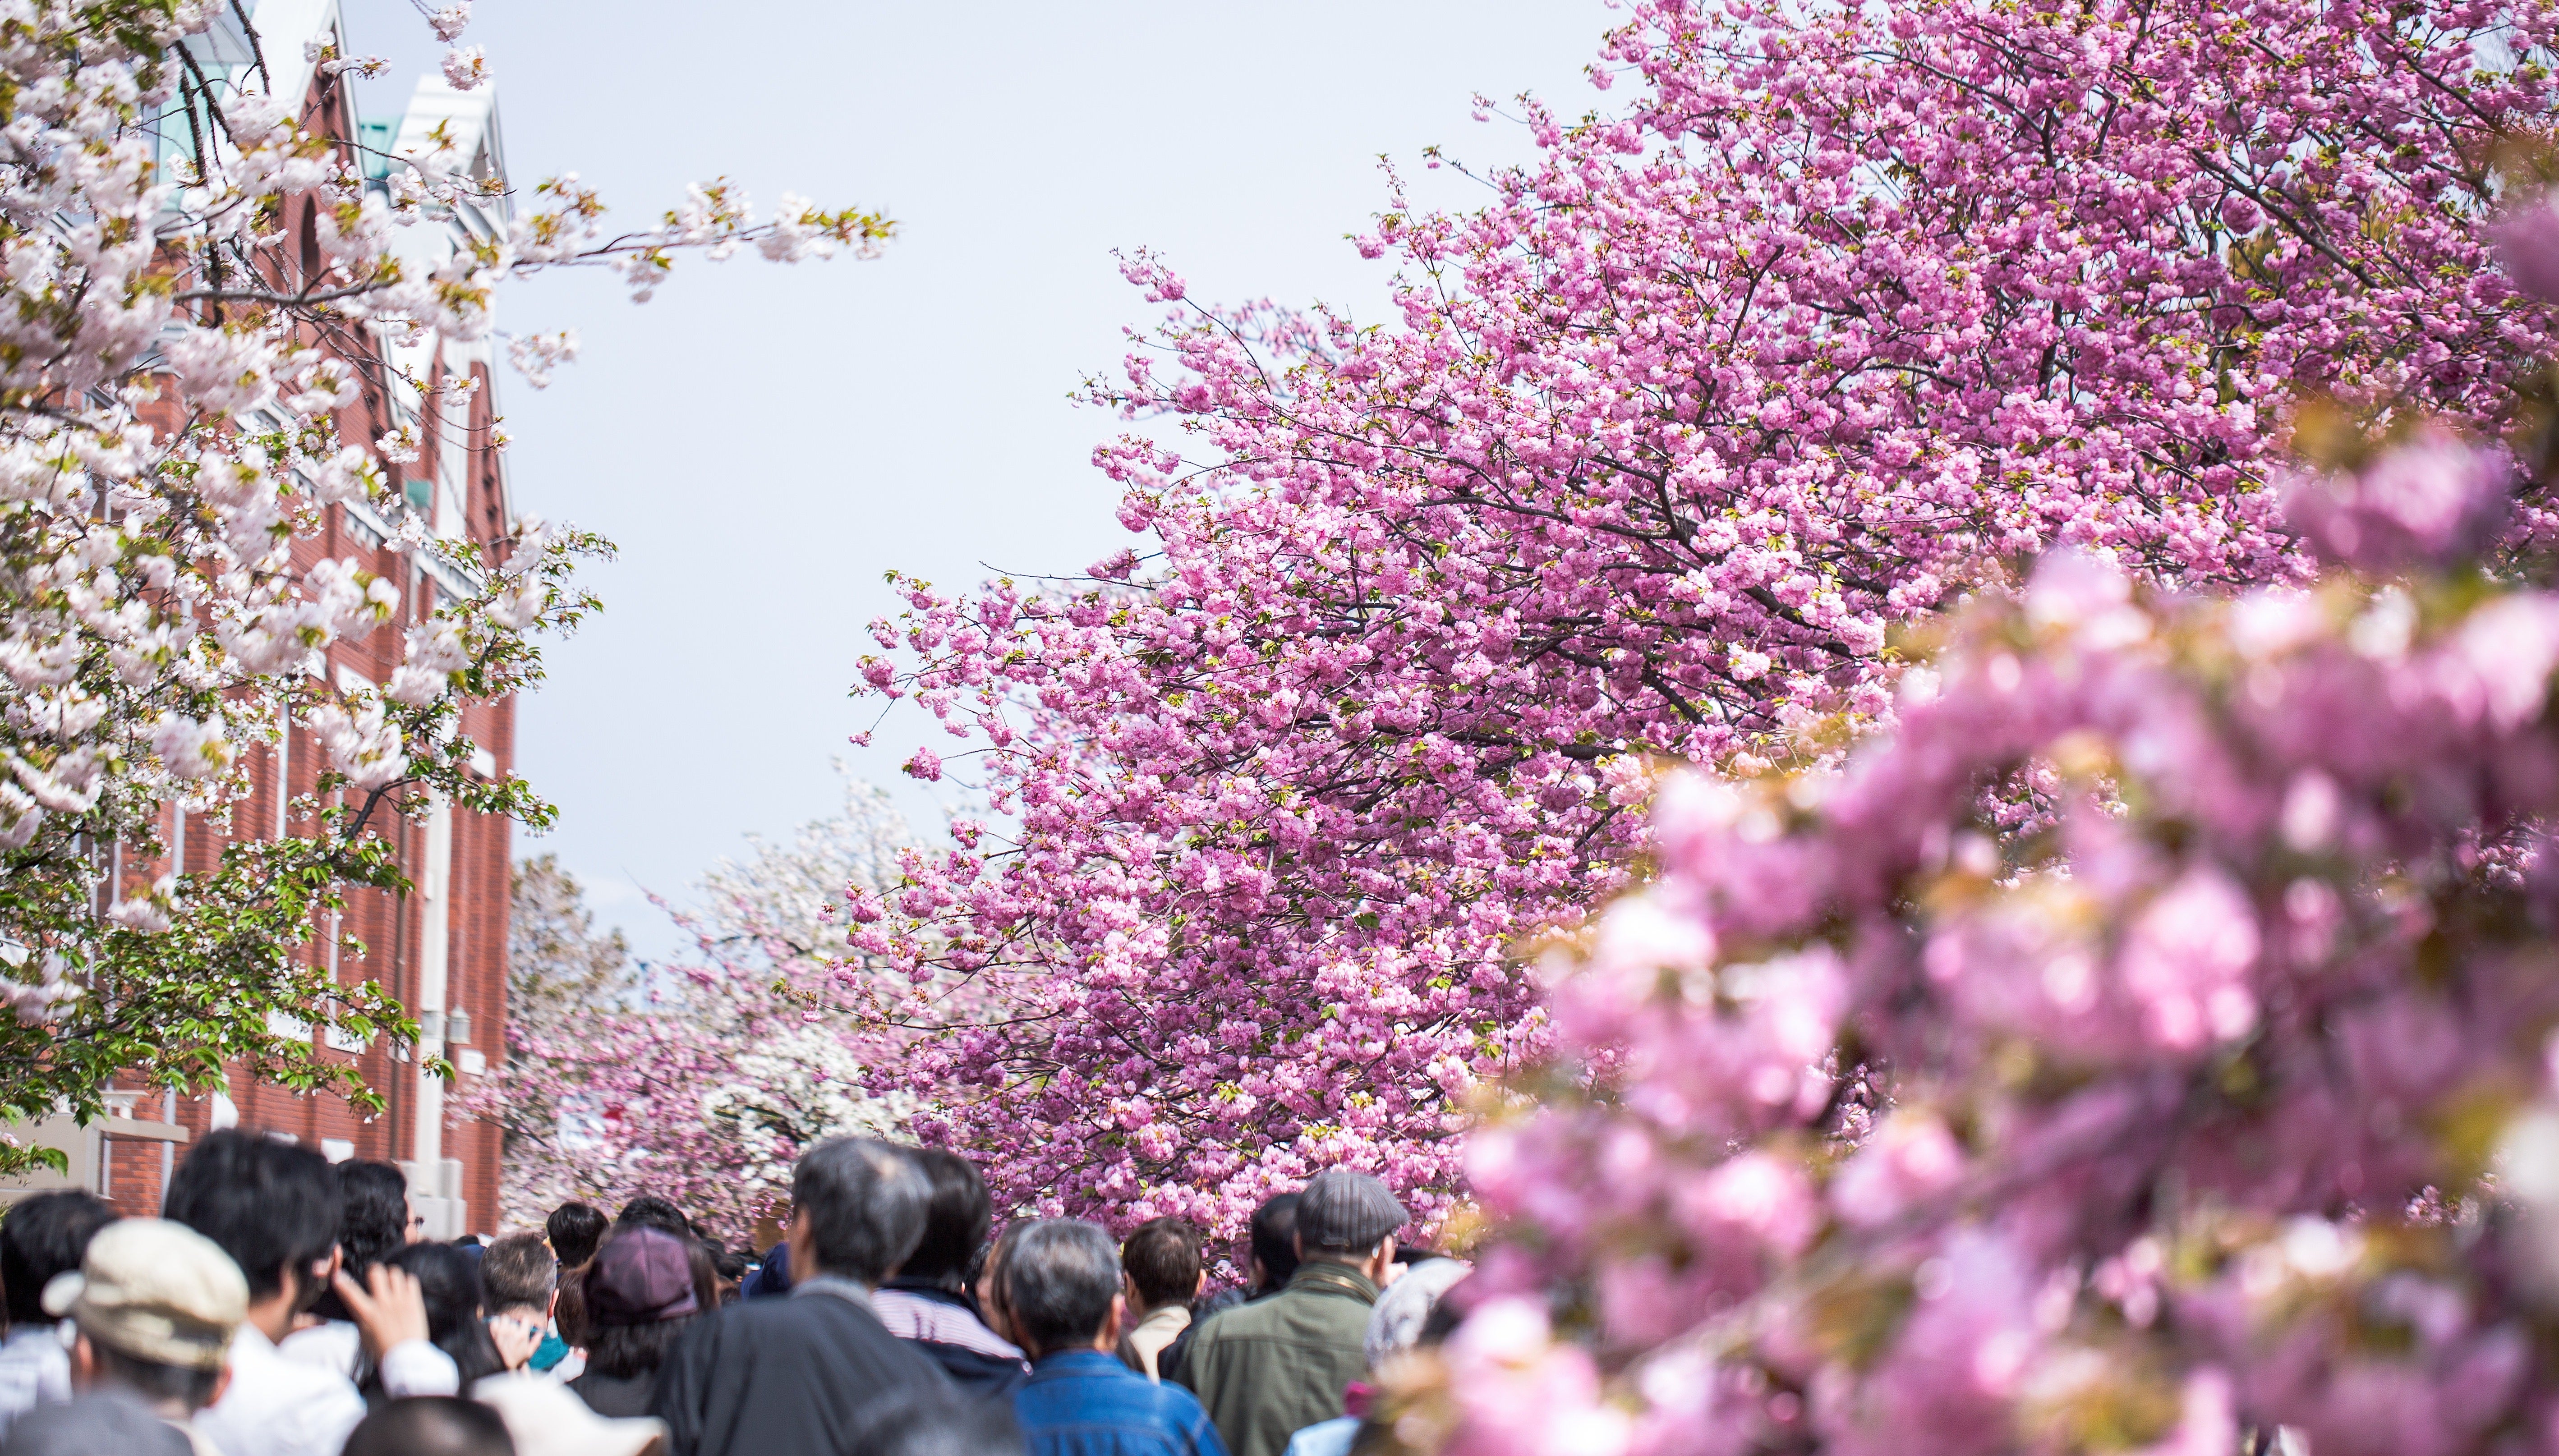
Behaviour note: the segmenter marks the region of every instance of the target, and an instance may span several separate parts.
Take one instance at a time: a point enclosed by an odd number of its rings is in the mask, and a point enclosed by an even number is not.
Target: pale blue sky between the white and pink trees
[[[397,61],[358,95],[394,115],[438,49],[402,0],[345,0],[356,54]],[[507,376],[519,509],[601,530],[606,612],[550,653],[519,709],[517,768],[560,806],[545,839],[647,952],[645,890],[683,898],[745,832],[829,811],[834,755],[934,798],[896,765],[924,724],[844,742],[862,627],[906,568],[1077,571],[1129,542],[1090,450],[1116,430],[1067,402],[1157,312],[1113,248],[1152,246],[1200,299],[1326,299],[1379,317],[1367,230],[1390,154],[1528,151],[1469,95],[1597,100],[1581,67],[1622,13],[1602,0],[1210,0],[622,5],[479,0],[509,171],[576,169],[630,220],[714,174],[760,202],[888,207],[873,264],[688,261],[632,307],[604,276],[514,287],[507,328],[576,328],[548,392]],[[1438,174],[1428,197],[1461,202]],[[949,740],[937,740],[947,745]]]

